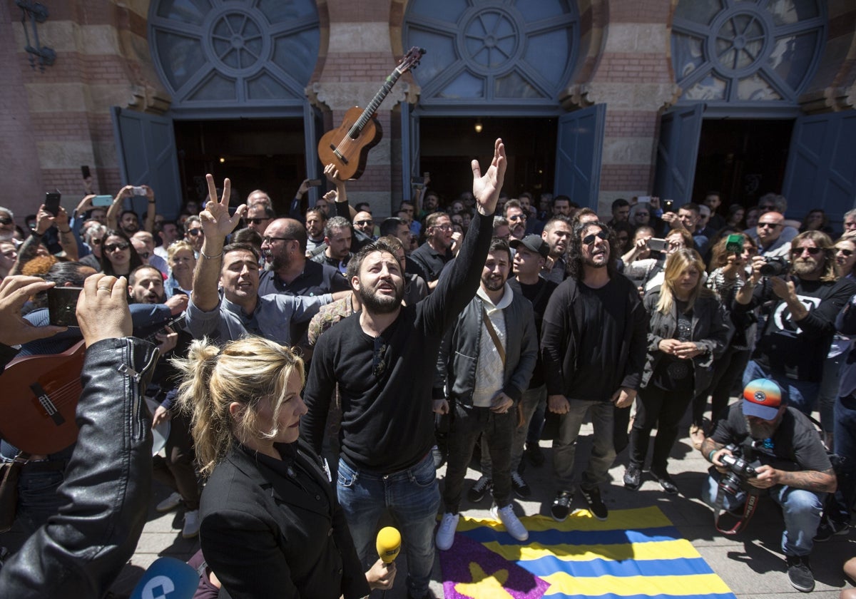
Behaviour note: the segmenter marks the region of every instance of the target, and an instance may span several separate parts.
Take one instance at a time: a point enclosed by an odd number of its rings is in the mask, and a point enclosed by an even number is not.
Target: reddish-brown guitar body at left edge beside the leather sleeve
[[[30,454],[53,454],[77,440],[84,341],[63,353],[24,356],[3,372],[0,436]]]

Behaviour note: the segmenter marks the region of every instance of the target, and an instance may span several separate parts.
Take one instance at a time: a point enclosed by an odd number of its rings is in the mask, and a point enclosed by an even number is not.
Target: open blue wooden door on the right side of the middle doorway
[[[597,211],[603,125],[606,104],[595,104],[559,117],[556,135],[554,195],[567,195],[583,207]]]

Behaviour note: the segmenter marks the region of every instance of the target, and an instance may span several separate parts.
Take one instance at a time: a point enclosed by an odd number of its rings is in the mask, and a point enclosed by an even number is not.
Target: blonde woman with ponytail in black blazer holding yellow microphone
[[[297,354],[251,336],[222,349],[193,341],[174,363],[209,477],[202,553],[229,595],[351,599],[388,589],[395,566],[378,560],[362,571],[329,471],[298,442],[306,404]]]

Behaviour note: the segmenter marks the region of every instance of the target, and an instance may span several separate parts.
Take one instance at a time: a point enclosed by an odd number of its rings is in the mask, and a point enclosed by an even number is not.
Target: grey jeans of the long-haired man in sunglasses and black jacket
[[[553,440],[553,473],[556,484],[565,491],[574,490],[574,459],[577,437],[586,414],[591,417],[594,439],[586,471],[580,478],[580,487],[592,489],[606,480],[609,467],[615,461],[612,442],[615,406],[611,401],[569,400],[568,413],[559,419],[559,434]]]

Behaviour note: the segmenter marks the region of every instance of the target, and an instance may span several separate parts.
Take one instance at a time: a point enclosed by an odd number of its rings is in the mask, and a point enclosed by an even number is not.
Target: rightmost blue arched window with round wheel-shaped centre
[[[681,99],[795,104],[825,38],[818,0],[681,0],[672,26]]]

